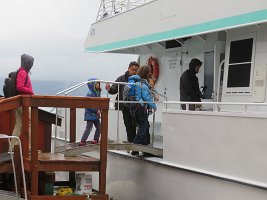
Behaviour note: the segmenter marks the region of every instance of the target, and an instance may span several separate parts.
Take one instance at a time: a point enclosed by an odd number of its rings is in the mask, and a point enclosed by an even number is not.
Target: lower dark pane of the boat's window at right
[[[229,65],[227,87],[249,87],[251,64]]]

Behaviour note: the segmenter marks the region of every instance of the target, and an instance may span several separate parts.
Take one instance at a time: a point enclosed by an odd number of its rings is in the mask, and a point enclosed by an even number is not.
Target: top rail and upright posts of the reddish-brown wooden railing
[[[70,140],[76,140],[76,109],[77,108],[98,108],[102,110],[101,115],[101,141],[100,141],[100,159],[99,159],[99,194],[101,198],[107,199],[106,192],[106,167],[107,167],[107,134],[108,134],[108,109],[109,98],[88,98],[88,97],[66,97],[66,96],[37,96],[37,95],[21,95],[8,99],[0,99],[0,112],[15,110],[22,107],[22,133],[21,141],[23,147],[23,157],[25,162],[25,170],[31,174],[31,190],[32,199],[38,199],[38,172],[46,169],[40,161],[38,154],[38,107],[56,107],[70,109]],[[31,117],[29,118],[29,112]],[[29,137],[29,122],[31,124],[31,137]],[[1,122],[0,122],[1,123]],[[51,136],[50,136],[51,137]],[[31,138],[31,153],[29,154],[29,138]],[[46,164],[49,161],[46,161]],[[90,162],[88,162],[90,164]],[[79,165],[79,162],[77,162]],[[47,166],[47,165],[46,165]],[[59,163],[50,165],[52,169],[61,170]],[[81,164],[80,171],[84,171],[84,162]],[[90,168],[90,167],[89,167]],[[66,170],[67,169],[67,170]],[[64,171],[79,170],[77,166],[64,166]],[[78,197],[77,197],[78,198]],[[80,197],[79,197],[80,198]],[[94,199],[94,197],[91,197]],[[42,196],[42,199],[45,199]],[[51,196],[47,199],[53,199]],[[75,196],[73,196],[75,199]]]

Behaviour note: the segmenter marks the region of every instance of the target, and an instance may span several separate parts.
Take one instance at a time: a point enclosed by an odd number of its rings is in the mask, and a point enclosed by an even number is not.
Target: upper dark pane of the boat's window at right
[[[229,64],[251,62],[253,38],[231,42]]]

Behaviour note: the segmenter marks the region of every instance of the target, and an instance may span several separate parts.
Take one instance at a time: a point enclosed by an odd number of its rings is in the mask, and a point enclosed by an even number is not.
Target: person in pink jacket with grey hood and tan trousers
[[[21,67],[17,73],[17,80],[16,86],[19,94],[29,94],[32,95],[33,89],[31,84],[31,79],[29,76],[29,72],[33,66],[34,58],[28,54],[23,54],[21,56]],[[13,129],[12,135],[20,136],[22,130],[22,108],[19,107],[16,109],[16,123]],[[30,129],[29,128],[29,136],[30,136]],[[15,140],[12,140],[12,145],[17,144]]]

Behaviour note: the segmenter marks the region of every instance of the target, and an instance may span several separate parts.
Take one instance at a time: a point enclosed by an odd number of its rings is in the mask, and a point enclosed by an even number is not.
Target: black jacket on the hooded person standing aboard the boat
[[[186,70],[180,77],[180,101],[200,102],[202,94],[193,69]]]

